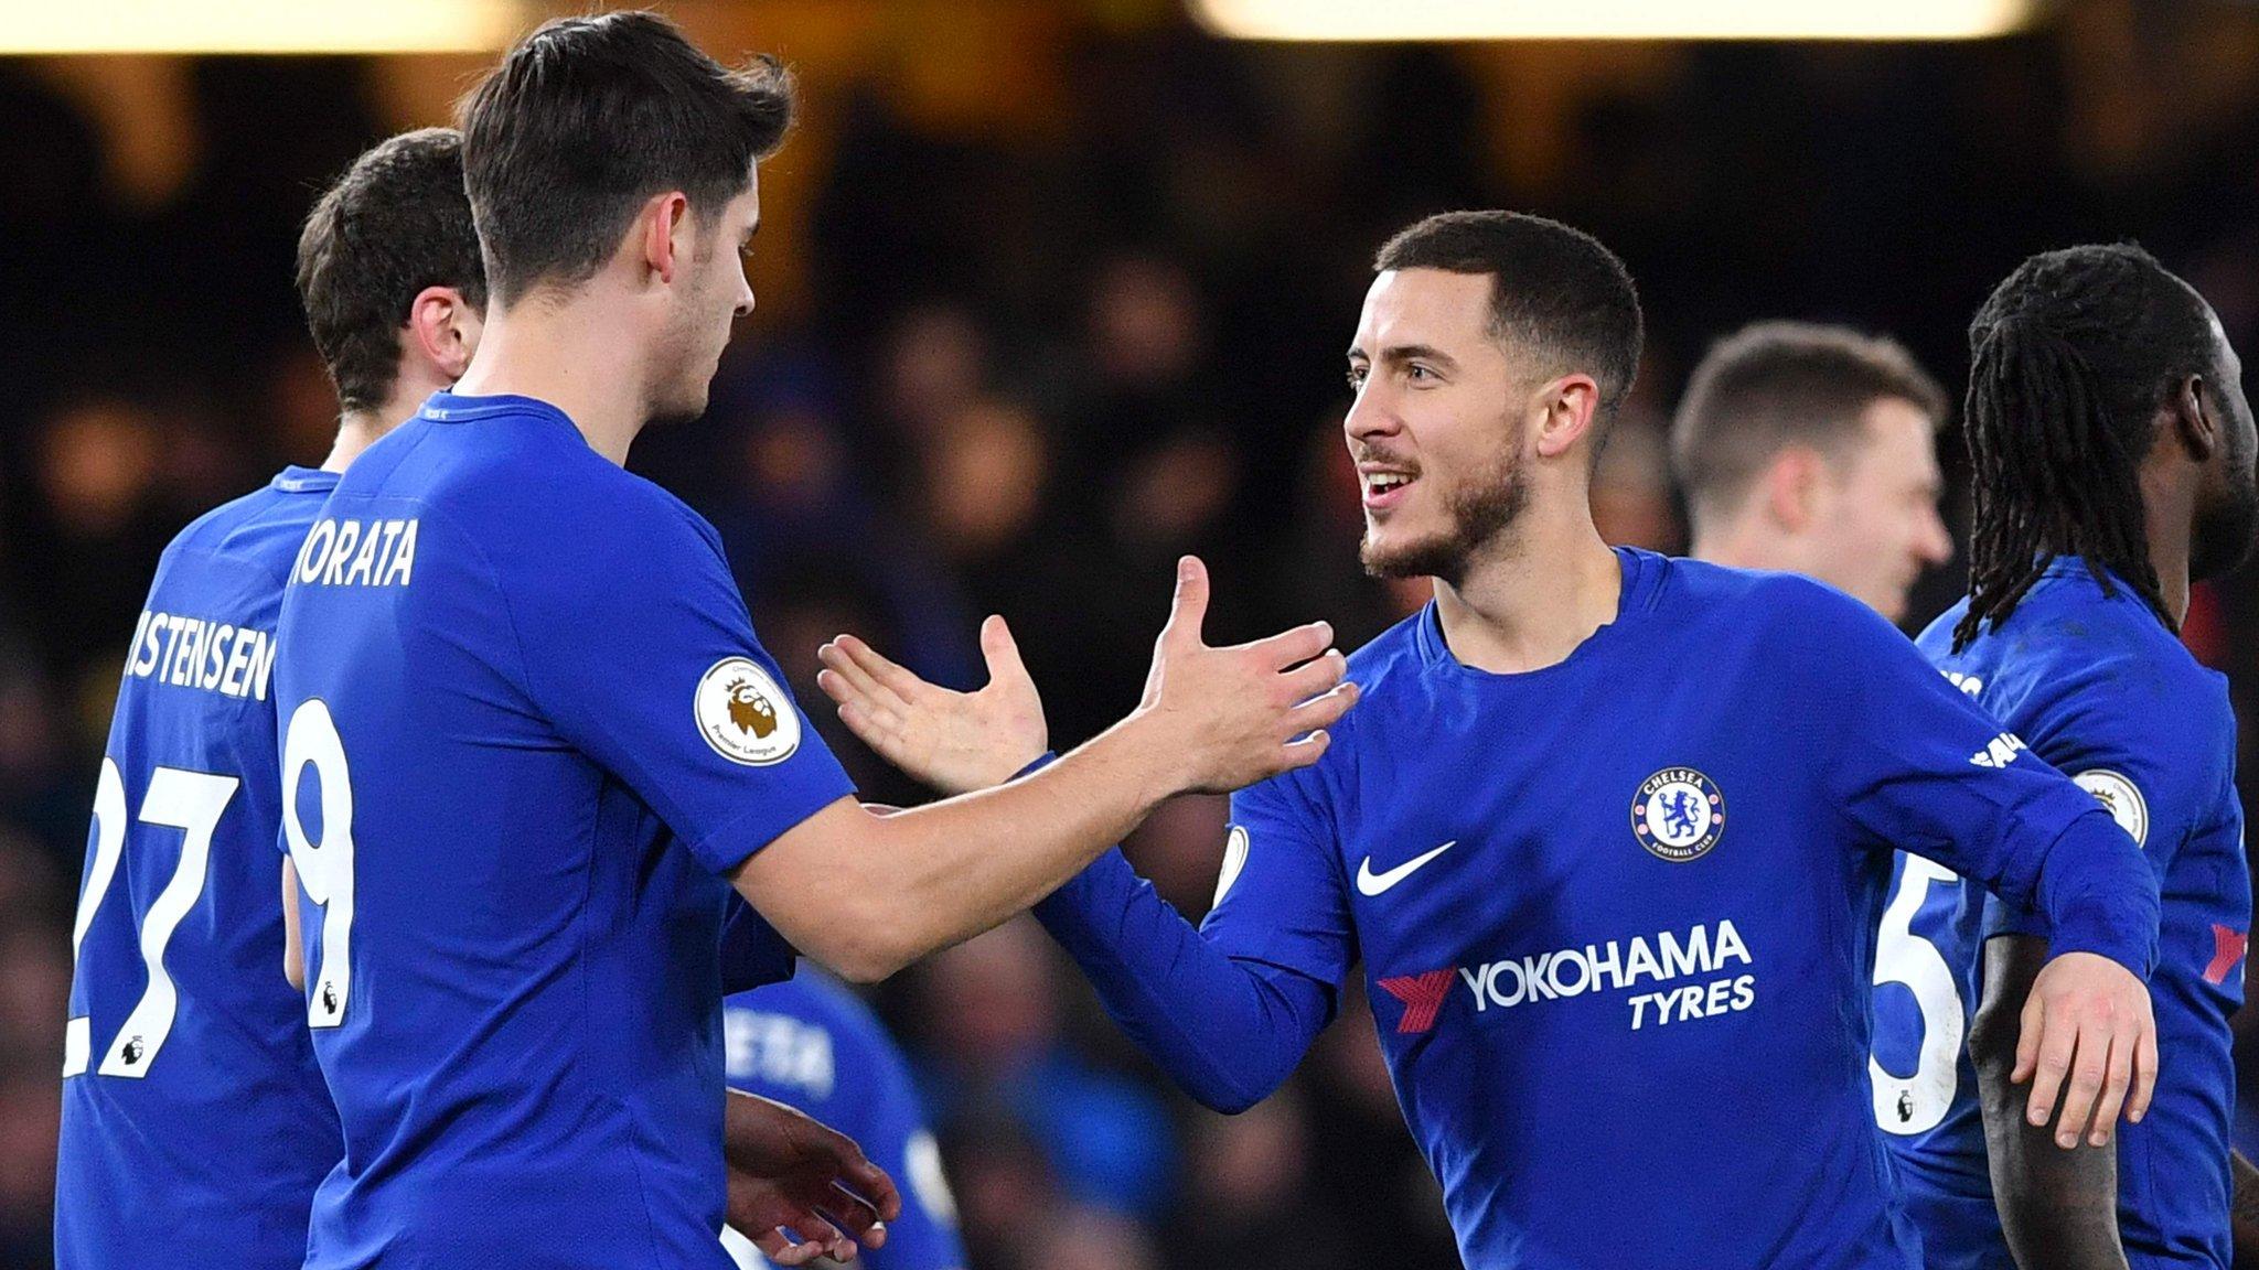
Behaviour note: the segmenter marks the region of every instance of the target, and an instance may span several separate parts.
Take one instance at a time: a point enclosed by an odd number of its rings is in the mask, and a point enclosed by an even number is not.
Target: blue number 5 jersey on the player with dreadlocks
[[[2198,664],[2132,588],[2056,560],[2004,624],[1961,653],[1963,601],[1922,633],[1945,678],[2099,798],[2157,872],[2164,917],[2151,1001],[2157,1094],[2121,1123],[2119,1236],[2135,1268],[2230,1263],[2227,1017],[2243,1003],[2252,893],[2227,680]],[[1875,965],[1875,1114],[1931,1268],[2015,1270],[1992,1204],[1977,1073],[1963,1037],[1983,999],[1983,940],[2044,922],[1945,868],[1904,861]]]

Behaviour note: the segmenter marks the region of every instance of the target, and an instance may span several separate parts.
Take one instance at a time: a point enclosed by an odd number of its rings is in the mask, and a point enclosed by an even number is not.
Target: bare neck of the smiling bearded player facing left
[[[1437,579],[1434,608],[1453,658],[1523,673],[1568,660],[1615,621],[1624,569],[1588,511],[1552,522],[1529,508],[1514,540],[1477,558],[1457,585]]]

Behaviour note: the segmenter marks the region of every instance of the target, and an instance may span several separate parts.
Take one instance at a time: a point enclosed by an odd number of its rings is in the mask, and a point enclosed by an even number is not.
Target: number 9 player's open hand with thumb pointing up
[[[1143,721],[1184,764],[1186,791],[1229,793],[1315,764],[1326,728],[1358,701],[1349,662],[1333,649],[1333,626],[1312,621],[1254,644],[1211,649],[1200,637],[1209,615],[1209,567],[1177,560],[1177,599],[1154,640]]]

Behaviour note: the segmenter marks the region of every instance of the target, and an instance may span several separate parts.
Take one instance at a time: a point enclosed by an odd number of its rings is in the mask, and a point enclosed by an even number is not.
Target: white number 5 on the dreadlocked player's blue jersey
[[[1931,881],[1959,884],[1961,877],[1909,854],[1898,879],[1898,897],[1884,908],[1882,931],[1875,938],[1875,985],[1904,983],[1922,1010],[1922,1055],[1911,1078],[1891,1076],[1873,1055],[1866,1060],[1866,1073],[1875,1082],[1875,1123],[1900,1137],[1938,1128],[1954,1105],[1961,1085],[1961,1037],[1968,1033],[1968,1012],[1961,1008],[1961,992],[1954,988],[1945,954],[1913,933],[1913,913],[1929,895]]]

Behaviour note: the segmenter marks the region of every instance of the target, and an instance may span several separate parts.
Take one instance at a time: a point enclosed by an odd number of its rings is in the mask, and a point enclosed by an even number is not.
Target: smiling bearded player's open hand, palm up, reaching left
[[[840,635],[815,653],[825,664],[815,682],[881,759],[942,793],[969,793],[1019,775],[1044,755],[1048,737],[1044,701],[1003,617],[980,624],[980,655],[987,687],[949,691]]]

